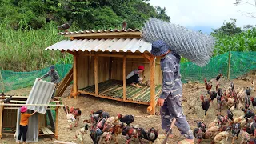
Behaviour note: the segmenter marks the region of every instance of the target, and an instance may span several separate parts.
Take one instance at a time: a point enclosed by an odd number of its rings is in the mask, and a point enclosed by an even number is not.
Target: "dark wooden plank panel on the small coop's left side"
[[[2,128],[15,128],[17,122],[17,110],[3,110]]]

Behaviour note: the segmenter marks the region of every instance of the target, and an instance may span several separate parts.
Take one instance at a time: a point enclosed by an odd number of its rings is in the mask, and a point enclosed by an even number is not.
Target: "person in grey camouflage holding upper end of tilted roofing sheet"
[[[58,76],[58,72],[55,70],[55,66],[50,66],[50,70],[41,78],[38,78],[38,81],[41,80],[42,78],[46,78],[49,76],[51,78],[50,82],[53,82],[55,84],[55,88],[54,88],[54,93],[55,93],[56,87],[58,86],[58,82],[59,82],[59,76]],[[51,96],[51,98],[54,99],[54,94]]]

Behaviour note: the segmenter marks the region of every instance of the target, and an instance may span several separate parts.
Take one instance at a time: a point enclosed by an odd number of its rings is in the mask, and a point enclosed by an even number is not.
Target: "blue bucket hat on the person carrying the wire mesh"
[[[162,40],[158,40],[152,43],[152,49],[150,52],[154,56],[161,56],[163,54],[166,54],[169,48],[170,47],[166,44],[166,42],[163,42]]]

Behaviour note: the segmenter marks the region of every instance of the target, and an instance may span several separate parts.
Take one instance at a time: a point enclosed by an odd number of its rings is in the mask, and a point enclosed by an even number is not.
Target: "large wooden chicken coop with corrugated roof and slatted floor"
[[[148,112],[155,114],[162,88],[160,58],[150,54],[151,43],[142,39],[141,30],[90,30],[60,34],[70,40],[57,42],[46,50],[72,54],[74,64],[59,83],[57,96],[61,96],[73,80],[71,97],[88,94],[149,105]],[[145,66],[143,77],[150,81],[150,86],[126,86],[126,75],[140,65]]]

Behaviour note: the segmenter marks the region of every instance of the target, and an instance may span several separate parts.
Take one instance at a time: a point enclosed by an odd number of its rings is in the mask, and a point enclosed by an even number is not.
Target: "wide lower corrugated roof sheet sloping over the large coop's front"
[[[109,52],[150,52],[151,43],[138,38],[114,38],[114,39],[82,39],[62,40],[46,50],[82,50],[82,51],[109,51]]]

